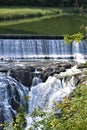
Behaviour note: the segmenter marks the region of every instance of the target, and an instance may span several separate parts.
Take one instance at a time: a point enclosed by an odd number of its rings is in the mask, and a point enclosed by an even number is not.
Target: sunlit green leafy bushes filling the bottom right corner
[[[35,116],[42,117],[39,121],[34,121],[34,128],[43,126],[41,130],[86,130],[87,129],[87,85],[80,85],[69,97],[65,97],[63,102],[56,104],[56,109],[60,109],[61,117],[53,113],[43,113],[35,110]],[[38,109],[39,110],[39,109]],[[31,128],[32,130],[32,128]]]

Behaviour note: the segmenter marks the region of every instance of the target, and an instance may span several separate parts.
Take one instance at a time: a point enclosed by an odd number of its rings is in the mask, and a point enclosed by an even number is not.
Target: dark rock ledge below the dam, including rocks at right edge
[[[32,79],[35,76],[35,71],[39,71],[42,82],[45,82],[49,76],[65,72],[74,66],[74,63],[62,61],[49,61],[49,62],[11,62],[0,63],[0,72],[7,73],[8,75],[20,81],[23,85],[30,88]],[[87,66],[85,64],[78,64],[77,68],[83,70],[84,74],[78,74],[79,81],[85,80],[87,73]],[[85,68],[85,69],[84,69]],[[83,78],[82,78],[82,77]],[[80,79],[81,78],[81,79]]]

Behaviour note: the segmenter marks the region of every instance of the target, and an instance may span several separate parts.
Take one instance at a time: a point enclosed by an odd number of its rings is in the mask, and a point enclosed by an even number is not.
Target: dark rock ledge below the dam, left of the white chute
[[[18,63],[13,64],[11,63],[10,66],[2,66],[0,69],[1,72],[5,72],[7,74],[10,74],[13,78],[15,78],[17,81],[21,82],[23,85],[27,87],[31,87],[32,85],[32,79],[35,76],[34,72],[35,69],[41,73],[41,79],[43,82],[46,81],[46,79],[49,76],[56,74],[59,74],[60,72],[64,72],[67,68],[70,68],[71,64],[68,62],[47,62],[47,63],[38,63],[38,62],[32,62],[31,65],[29,63]],[[9,73],[8,73],[9,72]]]

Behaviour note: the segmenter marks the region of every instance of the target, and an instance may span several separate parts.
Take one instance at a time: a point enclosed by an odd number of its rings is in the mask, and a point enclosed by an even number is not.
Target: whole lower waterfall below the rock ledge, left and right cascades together
[[[41,82],[40,72],[34,72],[31,90],[29,91],[20,82],[9,76],[9,73],[0,73],[0,123],[11,122],[17,115],[17,109],[22,105],[28,105],[28,112],[32,113],[34,108],[41,107],[46,110],[52,109],[54,103],[60,102],[68,96],[76,86],[74,74],[81,73],[73,67],[66,72],[49,76],[45,82]],[[24,96],[29,95],[29,102]],[[32,119],[26,117],[27,128]],[[2,130],[2,128],[0,129]]]

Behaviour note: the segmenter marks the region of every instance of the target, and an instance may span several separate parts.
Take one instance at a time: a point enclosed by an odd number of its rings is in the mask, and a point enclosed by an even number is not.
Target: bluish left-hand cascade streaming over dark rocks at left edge
[[[6,73],[0,73],[0,123],[11,122],[18,108],[26,105],[28,89]],[[0,130],[2,130],[0,128]]]

